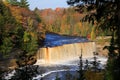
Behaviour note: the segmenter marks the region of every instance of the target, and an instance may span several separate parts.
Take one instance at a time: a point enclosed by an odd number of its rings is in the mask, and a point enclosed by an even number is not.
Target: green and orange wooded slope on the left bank
[[[40,23],[26,0],[0,0],[0,72],[12,65],[16,68],[35,63],[34,55],[44,39]]]

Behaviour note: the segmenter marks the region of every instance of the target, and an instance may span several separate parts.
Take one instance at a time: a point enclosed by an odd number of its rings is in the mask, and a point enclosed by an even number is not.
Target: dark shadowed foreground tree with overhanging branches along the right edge
[[[111,45],[109,46],[109,58],[106,80],[119,80],[120,74],[120,0],[68,0],[68,5],[76,5],[77,11],[85,7],[88,10],[84,21],[97,21],[97,26],[103,30],[113,32]],[[82,4],[78,4],[82,3]],[[117,50],[117,52],[115,52]],[[117,54],[117,55],[115,55]],[[114,56],[113,56],[114,55]],[[111,67],[111,68],[110,68]],[[110,76],[112,78],[110,78]]]

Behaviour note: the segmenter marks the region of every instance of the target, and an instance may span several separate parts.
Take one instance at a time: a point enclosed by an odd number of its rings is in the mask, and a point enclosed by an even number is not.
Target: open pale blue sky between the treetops
[[[66,8],[68,7],[66,0],[27,0],[29,2],[29,7],[31,10],[34,10],[36,7],[38,9],[52,8],[57,7]]]

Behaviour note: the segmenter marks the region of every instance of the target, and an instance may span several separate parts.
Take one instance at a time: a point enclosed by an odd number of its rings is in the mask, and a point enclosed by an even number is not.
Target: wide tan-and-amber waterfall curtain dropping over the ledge
[[[45,63],[73,60],[83,55],[83,58],[93,57],[96,52],[95,42],[79,42],[54,47],[40,48],[36,54],[38,60]]]

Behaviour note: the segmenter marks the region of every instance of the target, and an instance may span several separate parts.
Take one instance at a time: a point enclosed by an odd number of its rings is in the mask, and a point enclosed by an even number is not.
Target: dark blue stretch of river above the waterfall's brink
[[[44,47],[61,46],[64,44],[72,44],[78,42],[88,42],[89,40],[85,37],[79,36],[65,36],[54,33],[47,33],[44,41]]]

